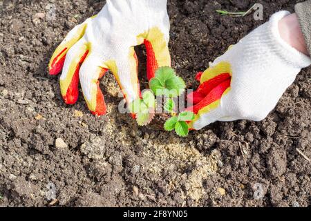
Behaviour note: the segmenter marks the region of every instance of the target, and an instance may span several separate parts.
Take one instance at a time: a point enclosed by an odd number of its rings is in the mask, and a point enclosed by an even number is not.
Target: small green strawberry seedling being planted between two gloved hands
[[[176,131],[181,137],[186,137],[189,133],[187,122],[194,119],[194,113],[190,111],[182,112],[178,115],[175,112],[175,98],[185,92],[186,84],[181,77],[178,77],[170,67],[162,67],[156,71],[156,77],[149,81],[149,88],[142,94],[142,98],[136,99],[130,105],[130,111],[136,114],[136,120],[140,126],[148,125],[155,116],[156,98],[162,96],[166,99],[164,111],[171,115],[171,118],[164,124],[166,131]]]

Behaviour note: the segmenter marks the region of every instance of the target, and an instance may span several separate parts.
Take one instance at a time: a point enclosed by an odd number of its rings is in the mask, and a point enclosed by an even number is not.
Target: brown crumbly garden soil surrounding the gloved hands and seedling
[[[169,1],[173,68],[196,86],[209,61],[296,2],[258,0],[264,20],[255,21],[215,11],[245,11],[249,0]],[[52,21],[48,3],[57,8]],[[102,80],[104,117],[82,96],[75,106],[62,101],[48,61],[104,1],[0,4],[0,206],[310,206],[310,162],[296,151],[311,157],[310,68],[263,122],[217,122],[180,138],[118,113],[113,77]]]

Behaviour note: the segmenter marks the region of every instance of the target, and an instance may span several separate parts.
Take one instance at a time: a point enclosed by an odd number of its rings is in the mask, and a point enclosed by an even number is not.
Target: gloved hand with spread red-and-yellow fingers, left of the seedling
[[[71,30],[50,60],[50,75],[62,71],[60,86],[66,104],[84,98],[95,115],[106,113],[99,79],[111,70],[129,104],[140,96],[134,46],[145,44],[147,77],[171,66],[167,0],[107,0],[95,17]]]

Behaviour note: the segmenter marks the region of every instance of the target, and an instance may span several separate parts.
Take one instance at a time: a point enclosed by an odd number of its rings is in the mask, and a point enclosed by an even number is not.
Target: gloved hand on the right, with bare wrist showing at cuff
[[[189,128],[199,130],[216,121],[261,121],[274,109],[310,57],[280,37],[279,21],[289,12],[278,12],[218,57],[204,73],[200,87],[189,95],[187,111],[196,118]]]

